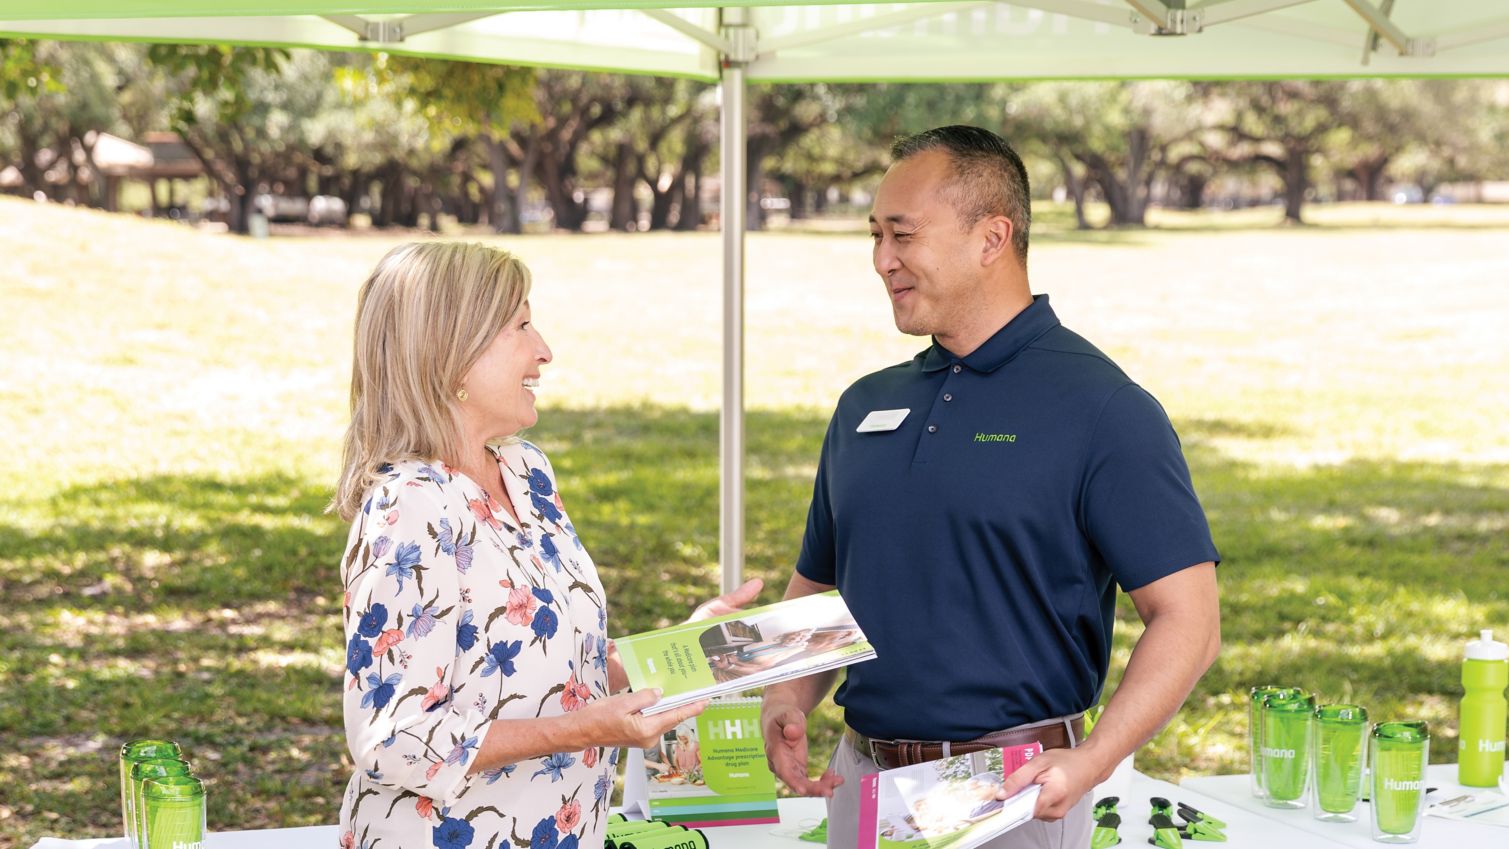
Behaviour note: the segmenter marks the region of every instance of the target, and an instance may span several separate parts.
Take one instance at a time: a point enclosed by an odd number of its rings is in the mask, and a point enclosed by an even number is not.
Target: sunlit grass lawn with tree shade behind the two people
[[[1034,234],[1034,288],[1163,401],[1225,556],[1224,653],[1136,763],[1245,769],[1271,682],[1424,718],[1453,760],[1461,645],[1509,632],[1509,210],[1272,217],[1076,234],[1049,208]],[[214,829],[335,820],[346,529],[321,510],[355,291],[398,240],[0,199],[0,849],[113,834],[115,751],[146,734],[186,745]],[[675,621],[717,585],[718,237],[492,241],[534,270],[557,359],[533,439],[610,630]],[[857,229],[753,235],[747,315],[747,572],[774,600],[833,401],[924,342]],[[816,728],[824,751],[836,712]]]

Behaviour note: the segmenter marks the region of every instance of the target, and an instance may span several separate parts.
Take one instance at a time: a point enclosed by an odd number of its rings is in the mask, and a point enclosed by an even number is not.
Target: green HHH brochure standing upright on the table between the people
[[[758,698],[715,698],[665,731],[626,774],[625,799],[643,798],[650,819],[703,828],[780,822],[776,777],[765,763]],[[629,781],[643,781],[643,796]]]

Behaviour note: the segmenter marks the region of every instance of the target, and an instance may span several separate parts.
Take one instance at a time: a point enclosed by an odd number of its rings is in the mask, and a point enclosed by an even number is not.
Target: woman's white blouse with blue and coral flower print
[[[346,585],[346,849],[601,846],[617,749],[468,777],[493,719],[608,692],[607,605],[528,442],[493,446],[521,523],[441,463],[385,469],[352,526]]]

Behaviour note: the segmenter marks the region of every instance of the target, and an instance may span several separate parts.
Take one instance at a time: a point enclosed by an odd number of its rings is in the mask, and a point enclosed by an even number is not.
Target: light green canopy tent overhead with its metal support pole
[[[1509,75],[1501,0],[0,0],[0,35],[385,50],[717,81],[720,559],[744,559],[748,81]]]

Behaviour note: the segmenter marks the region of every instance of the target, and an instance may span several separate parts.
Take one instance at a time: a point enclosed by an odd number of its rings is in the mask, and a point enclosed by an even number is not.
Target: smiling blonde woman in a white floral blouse
[[[507,252],[424,243],[361,290],[352,425],[333,507],[352,520],[341,844],[601,846],[619,746],[705,703],[644,716],[596,567],[536,422],[551,350]],[[730,612],[751,581],[699,608]]]

